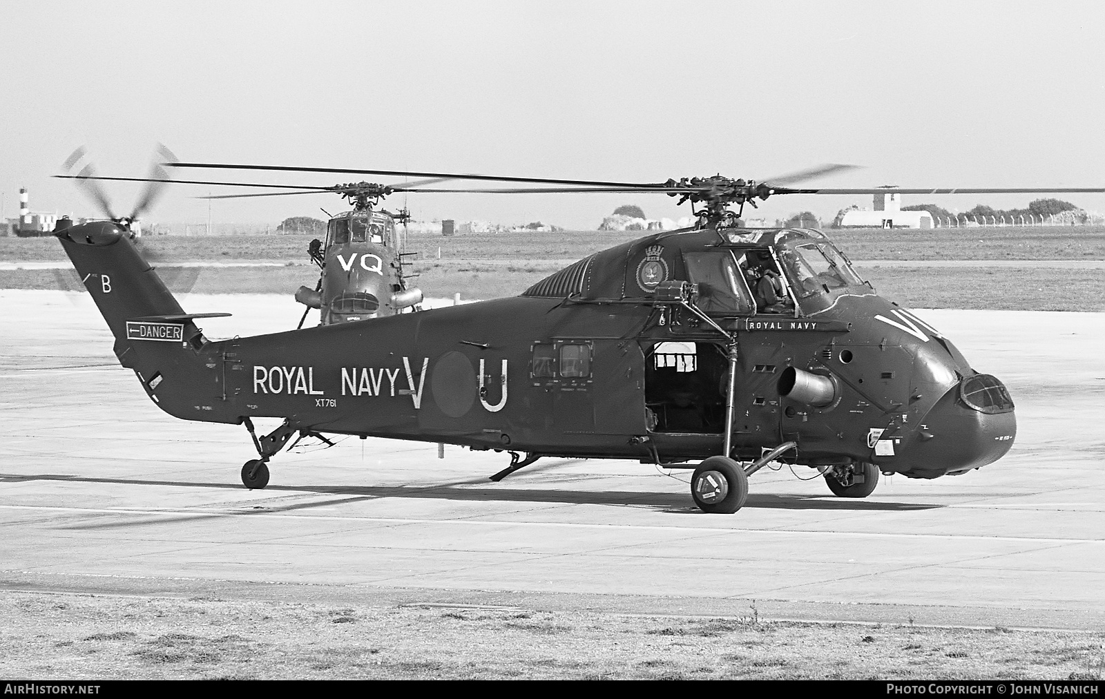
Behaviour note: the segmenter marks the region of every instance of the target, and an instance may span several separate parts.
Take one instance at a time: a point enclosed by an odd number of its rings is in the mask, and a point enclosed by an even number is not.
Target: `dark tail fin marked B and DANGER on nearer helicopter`
[[[54,234],[112,328],[119,364],[134,369],[149,397],[176,417],[238,421],[223,414],[230,409],[225,377],[208,358],[221,356],[222,343],[209,343],[192,322],[229,313],[185,313],[116,223],[97,221]],[[214,407],[220,404],[225,410]]]

